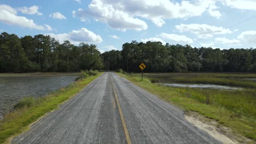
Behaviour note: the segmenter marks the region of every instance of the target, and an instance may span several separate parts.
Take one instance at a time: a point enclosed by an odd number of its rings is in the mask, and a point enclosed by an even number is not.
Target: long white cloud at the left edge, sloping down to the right
[[[51,27],[49,25],[37,25],[31,19],[27,19],[24,16],[18,16],[17,11],[14,8],[11,8],[9,5],[5,4],[0,5],[0,22],[7,23],[8,25],[38,29],[41,31],[51,30]]]

